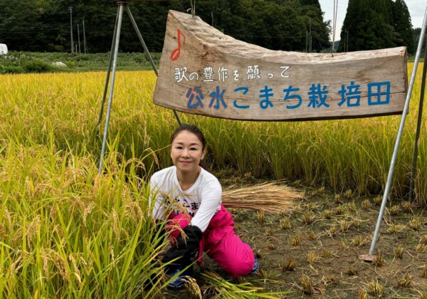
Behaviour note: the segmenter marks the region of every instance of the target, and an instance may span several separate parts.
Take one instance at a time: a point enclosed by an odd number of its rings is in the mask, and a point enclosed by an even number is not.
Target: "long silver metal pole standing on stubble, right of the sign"
[[[389,174],[387,176],[386,189],[384,190],[384,195],[383,195],[382,202],[381,202],[381,209],[379,211],[378,220],[376,221],[376,227],[375,227],[374,237],[372,238],[372,242],[371,242],[371,248],[369,248],[369,255],[374,253],[374,249],[375,249],[375,245],[376,245],[376,239],[378,238],[378,235],[379,235],[379,229],[381,227],[381,221],[382,221],[382,218],[384,216],[384,210],[386,209],[387,198],[389,197],[389,192],[390,192],[390,187],[391,187],[391,179],[393,178],[394,166],[396,164],[396,159],[397,159],[397,152],[399,151],[399,145],[400,145],[402,133],[404,131],[406,115],[408,114],[409,101],[411,100],[413,83],[415,81],[416,70],[417,70],[418,62],[419,62],[420,55],[421,55],[421,48],[423,48],[423,38],[426,34],[426,18],[427,18],[427,7],[426,7],[426,13],[424,14],[423,29],[421,30],[420,40],[418,41],[418,49],[416,51],[415,61],[413,63],[411,81],[409,83],[408,93],[406,94],[404,111],[402,112],[401,123],[399,125],[399,132],[397,134],[396,143],[394,145],[393,156],[391,157],[391,164],[390,164]]]

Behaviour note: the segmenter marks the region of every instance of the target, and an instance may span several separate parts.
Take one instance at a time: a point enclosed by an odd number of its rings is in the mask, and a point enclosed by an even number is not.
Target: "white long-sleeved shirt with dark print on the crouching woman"
[[[218,179],[205,169],[201,168],[199,177],[188,190],[182,191],[176,177],[176,167],[167,167],[153,174],[149,182],[151,191],[156,196],[153,215],[156,219],[164,218],[164,208],[167,199],[176,199],[183,204],[189,214],[193,216],[191,225],[205,231],[212,217],[221,209],[222,188]],[[165,200],[165,198],[167,198]],[[175,214],[182,213],[179,209]]]

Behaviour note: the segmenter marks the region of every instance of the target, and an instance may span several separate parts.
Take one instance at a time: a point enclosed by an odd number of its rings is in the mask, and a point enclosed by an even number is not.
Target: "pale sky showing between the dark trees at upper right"
[[[339,34],[341,33],[342,22],[344,22],[345,14],[347,13],[347,4],[349,0],[337,0],[337,27],[335,28],[335,41],[339,41]],[[426,0],[404,0],[408,6],[409,14],[411,14],[411,21],[413,28],[421,28],[423,26],[424,14],[426,13],[427,1]],[[323,19],[325,21],[332,20],[334,17],[334,0],[319,0],[322,11],[325,12]],[[332,33],[331,33],[332,41]]]

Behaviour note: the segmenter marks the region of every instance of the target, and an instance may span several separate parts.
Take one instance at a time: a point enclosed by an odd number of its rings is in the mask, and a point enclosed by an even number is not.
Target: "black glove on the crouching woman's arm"
[[[197,226],[189,225],[184,228],[184,234],[186,238],[184,239],[180,235],[176,240],[176,246],[169,248],[163,256],[162,263],[168,263],[177,258],[174,263],[170,263],[165,268],[168,274],[174,272],[180,266],[189,266],[192,263],[191,259],[194,258],[199,250],[201,230]]]

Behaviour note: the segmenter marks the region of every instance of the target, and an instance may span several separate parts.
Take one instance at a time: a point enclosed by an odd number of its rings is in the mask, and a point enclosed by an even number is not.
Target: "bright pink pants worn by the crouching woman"
[[[167,224],[172,246],[174,240],[179,237],[180,231],[176,228],[179,225],[184,229],[190,224],[191,216],[184,214],[172,215],[171,221]],[[210,258],[214,258],[216,263],[223,268],[232,278],[251,273],[255,257],[251,246],[241,241],[234,232],[234,222],[231,214],[221,206],[221,210],[212,217],[206,231],[203,232],[203,238],[200,242],[199,261],[201,253],[206,251]]]

